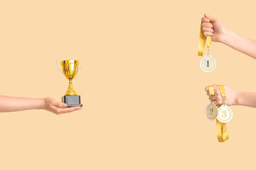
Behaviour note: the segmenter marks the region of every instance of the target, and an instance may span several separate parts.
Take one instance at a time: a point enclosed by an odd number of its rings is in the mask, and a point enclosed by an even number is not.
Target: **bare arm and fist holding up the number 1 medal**
[[[238,34],[231,32],[223,26],[218,18],[208,16],[201,19],[203,26],[203,33],[205,36],[212,35],[212,40],[215,42],[222,42],[235,50],[238,50],[245,55],[256,59],[256,41],[244,38]],[[210,26],[208,22],[212,22],[213,26]]]

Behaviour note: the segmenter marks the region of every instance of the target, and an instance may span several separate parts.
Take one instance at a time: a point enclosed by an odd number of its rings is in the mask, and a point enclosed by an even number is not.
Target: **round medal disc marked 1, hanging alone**
[[[203,72],[213,72],[216,67],[216,61],[211,55],[206,55],[200,62],[200,67]]]

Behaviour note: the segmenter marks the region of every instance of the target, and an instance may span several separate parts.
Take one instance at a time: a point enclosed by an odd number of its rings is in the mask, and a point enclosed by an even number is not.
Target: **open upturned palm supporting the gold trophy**
[[[43,100],[43,109],[55,113],[56,115],[82,110],[82,107],[65,108],[66,106],[65,103],[55,101],[53,98],[44,98]]]

